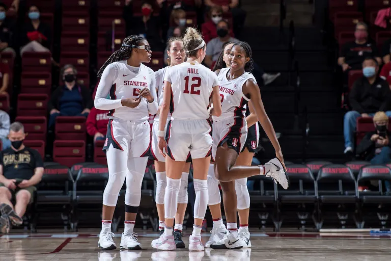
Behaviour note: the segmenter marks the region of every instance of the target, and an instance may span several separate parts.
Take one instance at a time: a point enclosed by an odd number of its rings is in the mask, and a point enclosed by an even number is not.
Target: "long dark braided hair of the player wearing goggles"
[[[116,50],[107,59],[107,61],[103,64],[103,66],[99,69],[98,77],[102,76],[102,73],[103,73],[104,69],[107,67],[107,65],[114,63],[114,62],[129,59],[129,57],[132,56],[132,48],[134,48],[134,46],[138,46],[138,44],[143,40],[144,40],[144,38],[139,37],[138,35],[131,35],[131,36],[126,37],[122,41],[121,48],[119,50]]]

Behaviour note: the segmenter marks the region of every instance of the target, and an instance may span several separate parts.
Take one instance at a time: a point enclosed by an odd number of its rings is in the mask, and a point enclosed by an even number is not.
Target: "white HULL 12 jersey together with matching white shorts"
[[[175,161],[186,161],[210,155],[212,126],[209,102],[212,88],[218,85],[217,76],[198,63],[182,63],[166,70],[164,81],[171,83],[170,111],[167,126],[167,154]]]

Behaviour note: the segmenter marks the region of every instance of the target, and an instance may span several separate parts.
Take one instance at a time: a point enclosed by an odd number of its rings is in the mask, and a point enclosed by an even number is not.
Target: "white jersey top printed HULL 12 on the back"
[[[171,83],[170,111],[174,119],[208,119],[212,88],[217,75],[199,63],[181,63],[166,70],[164,81]]]

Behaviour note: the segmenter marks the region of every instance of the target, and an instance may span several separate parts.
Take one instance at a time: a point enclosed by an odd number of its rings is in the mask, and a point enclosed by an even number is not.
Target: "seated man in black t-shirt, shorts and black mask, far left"
[[[10,222],[21,225],[28,204],[43,175],[43,162],[37,150],[23,145],[24,127],[20,122],[10,126],[11,148],[0,152],[0,232],[8,233]],[[11,200],[16,202],[15,207]]]

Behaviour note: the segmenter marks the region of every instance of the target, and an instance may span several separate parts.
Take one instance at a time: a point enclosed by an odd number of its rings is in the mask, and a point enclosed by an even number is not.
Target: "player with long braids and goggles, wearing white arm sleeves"
[[[149,114],[156,114],[158,107],[153,70],[142,64],[150,61],[148,41],[131,35],[98,72],[101,79],[95,108],[110,111],[103,147],[107,151],[109,178],[103,193],[102,230],[98,243],[103,250],[116,249],[110,227],[125,179],[125,230],[120,247],[141,249],[133,228],[150,150]]]

